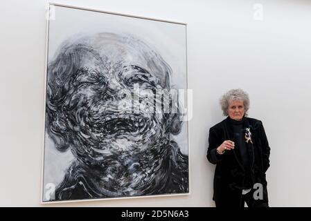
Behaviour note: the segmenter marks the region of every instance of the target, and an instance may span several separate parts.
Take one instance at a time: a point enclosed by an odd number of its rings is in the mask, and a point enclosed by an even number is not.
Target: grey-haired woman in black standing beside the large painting
[[[211,127],[207,159],[216,164],[213,200],[217,207],[267,207],[266,171],[270,148],[263,123],[247,117],[249,96],[229,90],[220,99],[226,119]]]

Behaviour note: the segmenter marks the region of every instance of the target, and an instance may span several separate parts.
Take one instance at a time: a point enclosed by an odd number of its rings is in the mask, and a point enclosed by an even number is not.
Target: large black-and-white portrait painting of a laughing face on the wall
[[[42,202],[189,193],[186,25],[49,12]]]

